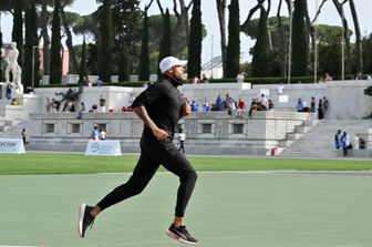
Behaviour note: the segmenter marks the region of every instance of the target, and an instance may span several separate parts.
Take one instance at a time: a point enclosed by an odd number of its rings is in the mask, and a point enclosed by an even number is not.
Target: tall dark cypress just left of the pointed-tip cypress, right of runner
[[[240,69],[240,23],[239,23],[239,1],[231,0],[228,23],[228,44],[226,49],[226,78],[236,78]]]

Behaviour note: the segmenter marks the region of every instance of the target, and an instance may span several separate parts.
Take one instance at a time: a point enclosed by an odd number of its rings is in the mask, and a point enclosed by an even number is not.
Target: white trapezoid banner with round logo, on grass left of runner
[[[120,156],[122,155],[122,150],[118,141],[90,140],[86,145],[85,155]]]

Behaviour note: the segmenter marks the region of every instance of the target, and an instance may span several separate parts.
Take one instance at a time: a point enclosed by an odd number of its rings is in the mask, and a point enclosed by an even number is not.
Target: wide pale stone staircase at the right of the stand
[[[307,123],[311,124],[311,123]],[[287,147],[280,154],[282,157],[337,157],[334,150],[334,134],[338,130],[347,132],[355,147],[356,134],[366,133],[368,128],[372,128],[371,120],[321,120],[312,128],[307,126],[298,126],[298,131],[303,127],[303,134],[289,134]],[[306,130],[308,130],[306,132]]]

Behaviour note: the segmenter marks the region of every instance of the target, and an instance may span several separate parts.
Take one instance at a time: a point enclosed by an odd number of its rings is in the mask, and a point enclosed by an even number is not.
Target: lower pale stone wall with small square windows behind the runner
[[[50,151],[84,151],[94,125],[104,126],[108,138],[120,140],[123,152],[138,152],[142,121],[127,113],[30,114],[30,147]],[[187,152],[193,154],[269,154],[279,141],[310,117],[307,113],[255,112],[231,119],[227,112],[192,113],[177,128],[186,133]],[[175,142],[177,135],[175,136]]]

